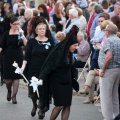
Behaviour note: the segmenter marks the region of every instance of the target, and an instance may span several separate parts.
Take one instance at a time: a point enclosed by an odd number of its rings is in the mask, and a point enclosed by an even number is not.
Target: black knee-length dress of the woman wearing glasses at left
[[[6,31],[3,35],[0,47],[3,52],[3,79],[20,79],[22,76],[15,73],[15,67],[12,66],[16,61],[21,67],[23,61],[23,53],[21,46],[23,43],[19,39],[18,34],[10,35],[9,31]]]

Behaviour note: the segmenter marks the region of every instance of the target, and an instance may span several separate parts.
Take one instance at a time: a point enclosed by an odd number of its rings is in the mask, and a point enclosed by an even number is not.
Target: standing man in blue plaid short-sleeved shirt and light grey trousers
[[[119,114],[118,85],[120,80],[120,38],[115,24],[106,26],[107,42],[98,58],[100,67],[100,99],[105,120],[114,120]]]

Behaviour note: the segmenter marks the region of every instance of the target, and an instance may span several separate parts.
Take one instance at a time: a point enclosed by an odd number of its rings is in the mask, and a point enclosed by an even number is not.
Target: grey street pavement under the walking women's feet
[[[7,89],[5,85],[0,86],[0,120],[38,120],[38,114],[35,117],[31,117],[30,115],[32,102],[28,98],[27,86],[22,81],[17,95],[18,104],[12,104],[11,101],[8,102],[6,94]],[[100,106],[83,104],[85,99],[85,96],[73,95],[69,120],[103,120]],[[49,120],[53,107],[51,104],[50,110],[46,113],[44,120]],[[60,115],[56,120],[60,120]]]

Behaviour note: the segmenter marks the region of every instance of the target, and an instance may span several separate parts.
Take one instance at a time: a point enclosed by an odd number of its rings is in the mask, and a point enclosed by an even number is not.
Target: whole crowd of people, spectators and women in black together
[[[60,112],[61,120],[69,119],[73,89],[79,91],[78,68],[90,58],[83,103],[100,99],[104,120],[120,119],[119,0],[46,0],[37,8],[35,0],[0,0],[0,52],[7,101],[18,103],[22,76],[12,66],[16,61],[29,81],[32,117],[39,109],[43,119],[53,98],[50,120]],[[29,86],[33,76],[43,80],[38,92]]]

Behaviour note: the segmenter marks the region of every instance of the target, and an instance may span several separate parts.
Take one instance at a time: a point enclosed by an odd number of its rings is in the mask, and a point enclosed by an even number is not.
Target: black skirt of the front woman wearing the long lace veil
[[[72,102],[71,83],[51,83],[55,106],[70,106]]]

